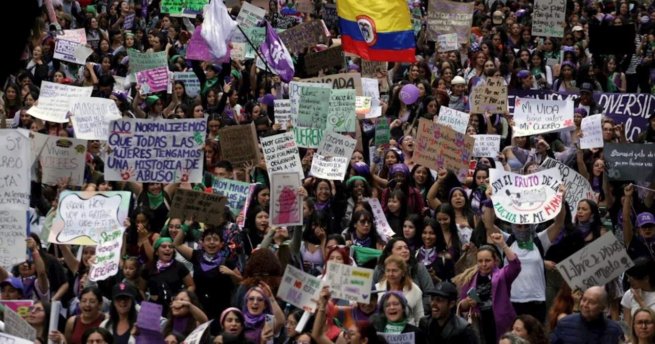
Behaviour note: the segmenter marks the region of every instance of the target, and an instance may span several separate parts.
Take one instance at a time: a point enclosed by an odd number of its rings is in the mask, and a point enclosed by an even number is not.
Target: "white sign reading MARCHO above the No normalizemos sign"
[[[69,104],[75,137],[83,140],[107,141],[109,122],[121,118],[121,111],[111,99],[73,98]]]

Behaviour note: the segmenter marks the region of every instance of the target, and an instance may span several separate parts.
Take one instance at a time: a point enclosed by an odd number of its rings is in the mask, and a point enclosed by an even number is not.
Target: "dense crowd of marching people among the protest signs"
[[[134,0],[44,0],[26,44],[24,68],[12,72],[3,87],[1,126],[74,137],[71,124],[43,121],[28,110],[38,104],[43,81],[92,86],[93,97],[113,100],[126,118],[204,117],[207,177],[197,184],[106,180],[104,142],[94,140],[88,141],[83,187],[66,178],[47,185],[37,177],[30,206],[33,218],[41,220],[26,239],[30,259],[0,267],[1,299],[33,300],[26,321],[37,332],[35,343],[160,343],[137,326],[145,301],[162,306],[166,344],[182,343],[210,320],[200,343],[401,343],[390,334],[412,334],[403,344],[655,343],[655,181],[612,181],[604,173],[603,149],[579,145],[582,119],[606,113],[593,94],[651,92],[655,9],[650,4],[569,0],[565,33],[552,38],[532,35],[532,1],[476,0],[470,42],[454,51],[440,51],[428,41],[422,22],[415,31],[415,62],[394,62],[390,56],[383,72],[380,104],[390,143],[375,147],[375,119],[360,119],[358,132],[351,134],[362,138],[363,149],[352,153],[344,180],[311,176],[316,149],[300,148],[305,175],[297,195],[304,224],[272,227],[265,159],[233,167],[221,155],[218,130],[254,123],[259,139],[285,132],[274,121],[274,100],[289,98],[289,84],[257,68],[257,56],[223,64],[187,60],[202,15],[171,16],[162,12],[159,0],[143,3],[147,8]],[[307,54],[341,44],[339,26],[324,18],[325,3],[314,1],[312,12],[294,14],[302,21],[324,19],[329,31],[324,45],[295,54],[294,80],[362,71],[357,56],[345,57],[345,66],[305,70]],[[275,24],[286,1],[267,5],[266,20]],[[407,6],[427,18],[428,1]],[[233,18],[239,12],[239,5],[230,9]],[[124,29],[130,14],[134,26]],[[592,54],[589,26],[635,26],[634,37],[623,37],[634,41],[635,53]],[[93,49],[86,63],[53,58],[59,30],[79,28]],[[145,96],[136,83],[118,83],[118,77],[130,75],[130,50],[165,51],[170,71],[195,73],[198,96],[189,96],[183,81],[172,81],[170,94]],[[515,136],[509,111],[472,113],[466,134],[501,136],[495,158],[476,158],[464,178],[413,161],[419,119],[437,121],[441,107],[469,111],[472,88],[485,85],[488,77],[502,77],[508,90],[578,93],[574,130]],[[405,85],[419,90],[412,104],[400,97]],[[649,115],[635,143],[655,143],[655,111]],[[286,130],[292,127],[286,123]],[[602,130],[605,143],[631,144],[625,123],[606,116]],[[496,218],[490,170],[532,174],[548,157],[583,176],[594,197],[563,204],[543,223]],[[176,189],[204,191],[215,178],[256,183],[245,214],[234,216],[226,207],[221,225],[169,217]],[[48,242],[59,194],[67,189],[132,193],[117,275],[92,282],[95,246]],[[559,192],[572,191],[561,185]],[[371,199],[380,201],[396,235],[379,231]],[[608,284],[571,288],[557,263],[608,232],[622,242],[634,266]],[[310,314],[276,297],[287,265],[325,280],[328,262],[373,269],[370,301],[335,299],[322,286]],[[49,325],[53,301],[64,308],[58,328]]]

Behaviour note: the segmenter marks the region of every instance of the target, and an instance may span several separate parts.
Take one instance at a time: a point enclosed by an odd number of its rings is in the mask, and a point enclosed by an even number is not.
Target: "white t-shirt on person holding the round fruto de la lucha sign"
[[[509,237],[509,236],[508,236]],[[505,239],[507,241],[507,239]],[[541,240],[544,247],[544,254],[552,245],[548,239],[548,231],[541,231],[534,240]],[[512,295],[510,301],[517,303],[531,301],[546,301],[546,277],[544,276],[544,259],[541,258],[539,249],[524,250],[519,248],[518,242],[512,242],[510,249],[521,261],[521,272],[512,283]],[[507,259],[505,259],[507,264]]]

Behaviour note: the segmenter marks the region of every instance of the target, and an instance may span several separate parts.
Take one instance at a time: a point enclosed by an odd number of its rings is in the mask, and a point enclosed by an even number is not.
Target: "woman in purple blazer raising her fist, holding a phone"
[[[493,214],[493,208],[485,207],[484,210]],[[490,237],[502,249],[508,263],[499,269],[498,262],[502,258],[496,255],[493,246],[483,245],[477,250],[477,265],[453,279],[462,286],[460,311],[472,311],[480,317],[482,336],[487,344],[498,343],[500,336],[512,326],[516,313],[510,302],[510,293],[512,282],[521,272],[521,262],[507,246],[502,234],[492,233]]]

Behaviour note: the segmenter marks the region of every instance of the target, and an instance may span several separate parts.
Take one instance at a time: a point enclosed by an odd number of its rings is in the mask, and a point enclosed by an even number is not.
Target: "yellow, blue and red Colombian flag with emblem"
[[[337,1],[343,51],[365,60],[416,62],[405,0]]]

